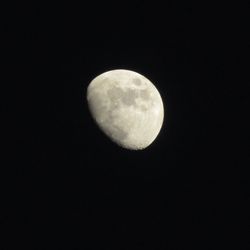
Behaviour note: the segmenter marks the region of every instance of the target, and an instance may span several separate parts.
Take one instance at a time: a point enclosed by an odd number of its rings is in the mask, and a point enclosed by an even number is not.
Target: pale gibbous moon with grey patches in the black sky
[[[150,80],[131,70],[116,69],[95,77],[87,88],[87,103],[98,127],[126,149],[148,147],[163,124],[160,93]]]

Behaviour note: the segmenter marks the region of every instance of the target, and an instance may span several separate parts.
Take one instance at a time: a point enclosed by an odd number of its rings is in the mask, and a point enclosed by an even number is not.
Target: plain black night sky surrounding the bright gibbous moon
[[[247,6],[201,2],[2,8],[6,249],[249,249]],[[163,98],[143,151],[87,108],[89,82],[118,68]]]

